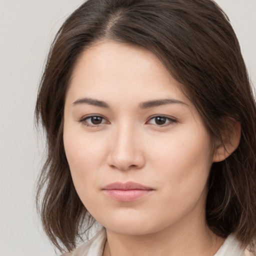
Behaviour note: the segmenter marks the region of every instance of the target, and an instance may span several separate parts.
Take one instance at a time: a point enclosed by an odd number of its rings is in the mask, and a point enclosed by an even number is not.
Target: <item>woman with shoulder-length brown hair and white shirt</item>
[[[37,205],[66,255],[254,252],[255,101],[213,1],[84,2],[52,44],[36,118]]]

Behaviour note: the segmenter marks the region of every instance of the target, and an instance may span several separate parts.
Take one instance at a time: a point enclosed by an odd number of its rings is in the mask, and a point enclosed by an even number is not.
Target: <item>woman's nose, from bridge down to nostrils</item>
[[[123,125],[110,138],[107,163],[120,170],[139,169],[145,164],[141,135],[134,127]]]

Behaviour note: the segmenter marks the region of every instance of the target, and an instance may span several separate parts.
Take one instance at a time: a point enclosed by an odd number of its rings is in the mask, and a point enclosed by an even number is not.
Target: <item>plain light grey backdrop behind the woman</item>
[[[0,256],[55,255],[34,208],[43,141],[33,113],[50,42],[83,0],[0,0]],[[256,81],[256,0],[216,0]]]

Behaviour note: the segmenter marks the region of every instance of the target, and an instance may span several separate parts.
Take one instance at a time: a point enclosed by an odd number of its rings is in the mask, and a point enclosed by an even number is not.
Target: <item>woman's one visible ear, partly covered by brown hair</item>
[[[228,135],[222,137],[223,143],[219,144],[214,152],[213,162],[224,160],[238,147],[241,136],[241,123],[232,123],[227,132]]]

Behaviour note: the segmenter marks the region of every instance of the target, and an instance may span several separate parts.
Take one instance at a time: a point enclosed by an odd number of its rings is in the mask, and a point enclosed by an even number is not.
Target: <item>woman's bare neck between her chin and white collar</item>
[[[224,239],[215,235],[205,221],[185,219],[149,234],[127,235],[106,230],[107,243],[103,255],[213,256]]]

